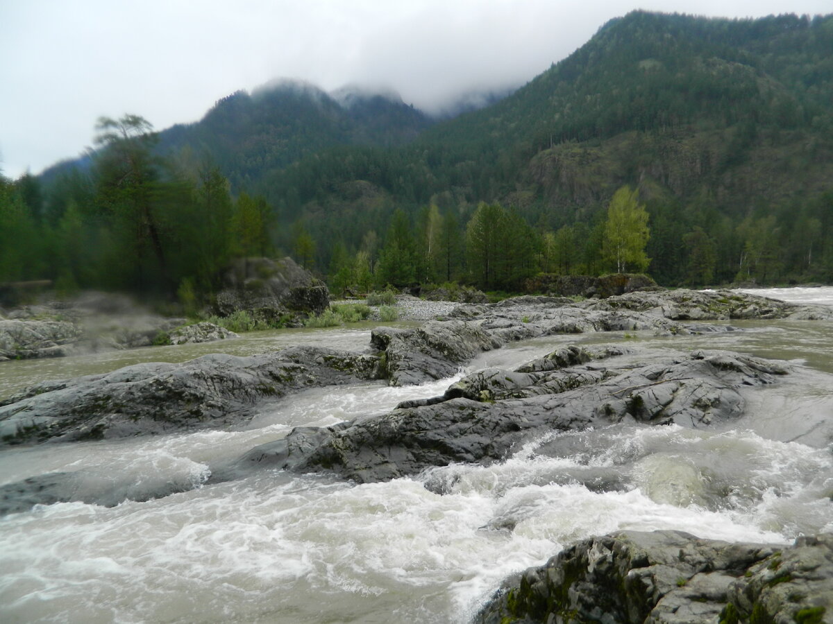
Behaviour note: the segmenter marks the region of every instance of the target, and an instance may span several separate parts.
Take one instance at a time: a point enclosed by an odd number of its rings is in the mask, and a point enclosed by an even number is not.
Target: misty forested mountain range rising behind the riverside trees
[[[213,161],[236,194],[265,197],[272,242],[292,250],[311,237],[319,269],[334,250],[384,243],[397,210],[400,234],[405,221],[424,225],[429,205],[462,230],[488,202],[534,226],[539,265],[557,234],[572,258],[561,270],[601,271],[606,206],[630,185],[663,284],[833,281],[831,50],[833,16],[636,11],[451,119],[390,92],[283,81],[162,131],[157,149]]]

